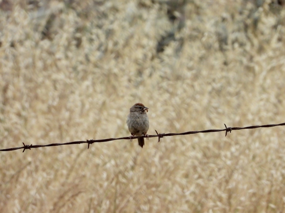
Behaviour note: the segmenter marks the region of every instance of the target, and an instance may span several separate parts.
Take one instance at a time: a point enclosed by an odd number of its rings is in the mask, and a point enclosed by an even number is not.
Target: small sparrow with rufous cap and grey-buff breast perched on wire
[[[144,135],[148,139],[148,128],[149,121],[148,116],[146,114],[148,112],[148,108],[145,107],[142,103],[136,103],[130,108],[130,114],[127,118],[127,125],[129,131],[131,132],[130,139],[132,141],[132,137]],[[144,138],[138,138],[139,145],[143,148],[144,146]]]

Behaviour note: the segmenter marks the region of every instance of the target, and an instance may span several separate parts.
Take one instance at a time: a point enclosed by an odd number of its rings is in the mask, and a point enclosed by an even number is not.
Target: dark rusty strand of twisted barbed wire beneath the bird
[[[224,124],[225,125],[225,124]],[[245,129],[256,129],[256,128],[261,128],[261,127],[274,127],[274,126],[285,126],[285,123],[281,124],[267,124],[267,125],[261,125],[261,126],[246,126],[246,127],[227,127],[225,125],[225,129],[221,130],[202,130],[202,131],[188,131],[188,132],[182,132],[182,133],[158,133],[156,130],[156,135],[148,135],[147,136],[132,136],[132,139],[136,139],[139,137],[158,137],[158,143],[160,142],[160,138],[165,137],[165,136],[174,136],[174,135],[190,135],[190,134],[196,134],[196,133],[206,133],[206,132],[221,132],[221,131],[226,131],[226,135],[228,132],[231,132],[233,130],[245,130]],[[39,147],[53,147],[53,146],[61,146],[61,145],[71,145],[71,144],[81,144],[81,143],[87,143],[89,149],[89,145],[92,143],[101,143],[101,142],[107,142],[107,141],[115,141],[115,140],[130,140],[130,137],[119,137],[119,138],[107,138],[107,139],[100,139],[100,140],[86,140],[86,141],[73,141],[73,142],[68,142],[68,143],[51,143],[51,144],[46,144],[46,145],[26,145],[23,143],[23,147],[15,147],[15,148],[8,148],[8,149],[0,149],[0,151],[13,151],[17,149],[24,149],[23,152],[26,149],[31,149],[31,148],[39,148]]]

